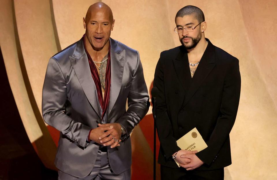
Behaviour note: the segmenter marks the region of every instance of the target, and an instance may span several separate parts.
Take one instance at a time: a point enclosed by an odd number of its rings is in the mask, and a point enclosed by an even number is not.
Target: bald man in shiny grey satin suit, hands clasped
[[[85,35],[49,60],[42,114],[60,131],[61,180],[130,179],[129,136],[147,113],[149,96],[139,52],[110,38],[114,24],[106,4],[91,5]]]

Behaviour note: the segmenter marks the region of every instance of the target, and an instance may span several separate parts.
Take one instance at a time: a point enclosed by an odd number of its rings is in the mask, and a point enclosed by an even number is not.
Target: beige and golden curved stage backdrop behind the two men
[[[48,168],[55,169],[56,135],[41,116],[47,62],[81,38],[85,32],[82,18],[96,1],[1,0],[0,46],[8,79],[28,137]],[[103,2],[111,7],[115,18],[111,37],[140,52],[148,88],[160,52],[180,44],[173,32],[176,12],[185,5],[203,10],[205,36],[239,59],[242,76],[237,120],[230,135],[233,164],[225,168],[225,179],[277,179],[277,1]],[[133,152],[151,167],[152,151],[139,126],[132,142]],[[136,178],[139,175],[133,176]]]

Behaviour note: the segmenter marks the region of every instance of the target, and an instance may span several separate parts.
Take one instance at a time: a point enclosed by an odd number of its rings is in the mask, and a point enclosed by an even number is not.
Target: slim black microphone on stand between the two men
[[[152,104],[153,104],[153,118],[154,118],[154,153],[153,153],[153,179],[156,180],[156,99],[159,94],[158,88],[154,87],[151,89]]]

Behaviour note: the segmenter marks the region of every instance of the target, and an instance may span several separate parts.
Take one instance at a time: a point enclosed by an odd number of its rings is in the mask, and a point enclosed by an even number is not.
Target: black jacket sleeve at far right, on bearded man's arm
[[[235,123],[239,106],[240,88],[241,77],[239,73],[239,60],[235,58],[226,71],[220,112],[216,126],[209,138],[208,147],[196,153],[196,156],[208,165],[210,165],[218,155],[218,152],[229,137],[229,133]]]

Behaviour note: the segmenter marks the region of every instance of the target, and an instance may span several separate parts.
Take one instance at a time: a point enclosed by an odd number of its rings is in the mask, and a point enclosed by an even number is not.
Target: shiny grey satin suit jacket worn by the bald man
[[[138,51],[110,38],[111,92],[106,123],[120,123],[129,136],[149,108],[149,96]],[[126,100],[128,110],[126,112]],[[85,177],[96,161],[99,144],[88,142],[91,128],[101,120],[95,83],[83,39],[50,58],[42,90],[44,121],[59,131],[55,165],[67,174]],[[131,166],[131,141],[110,149],[111,169],[120,174]]]

